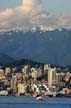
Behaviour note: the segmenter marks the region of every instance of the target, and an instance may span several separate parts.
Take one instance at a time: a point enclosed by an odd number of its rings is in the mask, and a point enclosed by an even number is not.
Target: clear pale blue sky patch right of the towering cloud
[[[71,0],[45,0],[48,11],[56,14],[71,13]]]

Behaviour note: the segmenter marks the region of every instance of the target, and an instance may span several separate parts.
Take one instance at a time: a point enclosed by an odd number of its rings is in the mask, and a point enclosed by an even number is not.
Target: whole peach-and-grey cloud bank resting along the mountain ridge
[[[0,30],[31,29],[34,26],[71,27],[71,15],[48,14],[42,0],[22,0],[16,8],[0,12]]]

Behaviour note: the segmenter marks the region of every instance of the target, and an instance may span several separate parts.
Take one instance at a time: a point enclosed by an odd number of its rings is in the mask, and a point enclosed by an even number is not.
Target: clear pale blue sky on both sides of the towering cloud
[[[0,0],[0,11],[21,4],[22,0]],[[71,0],[43,0],[48,12],[62,14],[71,12]]]

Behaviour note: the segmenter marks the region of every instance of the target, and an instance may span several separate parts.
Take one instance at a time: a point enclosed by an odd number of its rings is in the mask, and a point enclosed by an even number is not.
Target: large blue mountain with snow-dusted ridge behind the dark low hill
[[[71,30],[45,27],[0,32],[0,52],[56,65],[71,64]]]

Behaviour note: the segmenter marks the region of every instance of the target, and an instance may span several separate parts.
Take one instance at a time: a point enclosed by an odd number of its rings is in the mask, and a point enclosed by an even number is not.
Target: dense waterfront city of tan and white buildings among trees
[[[71,96],[71,72],[50,64],[0,66],[0,95],[48,97]]]

